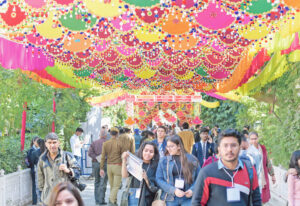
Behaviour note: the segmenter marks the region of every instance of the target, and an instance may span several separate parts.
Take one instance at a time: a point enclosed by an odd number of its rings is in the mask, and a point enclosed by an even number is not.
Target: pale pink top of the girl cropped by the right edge
[[[288,200],[289,206],[300,206],[300,177],[288,176]]]

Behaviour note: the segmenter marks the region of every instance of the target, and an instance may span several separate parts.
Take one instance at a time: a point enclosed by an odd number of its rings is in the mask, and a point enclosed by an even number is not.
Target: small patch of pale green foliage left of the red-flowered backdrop
[[[124,126],[127,119],[125,102],[103,108],[103,117],[110,118],[112,126]]]

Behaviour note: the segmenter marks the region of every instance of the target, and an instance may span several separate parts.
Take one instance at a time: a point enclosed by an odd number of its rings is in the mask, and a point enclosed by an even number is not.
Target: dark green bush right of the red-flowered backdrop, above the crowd
[[[216,101],[213,97],[203,95],[206,101]],[[236,114],[243,109],[243,104],[232,101],[220,101],[220,106],[217,108],[201,107],[201,119],[204,125],[213,127],[219,125],[221,129],[236,128]]]

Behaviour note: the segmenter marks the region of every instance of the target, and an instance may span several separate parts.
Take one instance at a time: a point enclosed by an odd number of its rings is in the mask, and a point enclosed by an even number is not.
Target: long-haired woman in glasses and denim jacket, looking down
[[[186,152],[178,135],[167,138],[166,148],[156,171],[156,182],[162,189],[161,199],[167,206],[189,206],[200,165],[196,157]]]

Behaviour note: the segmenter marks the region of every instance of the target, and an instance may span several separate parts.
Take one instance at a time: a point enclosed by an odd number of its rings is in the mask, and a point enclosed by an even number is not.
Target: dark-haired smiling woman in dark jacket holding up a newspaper
[[[122,177],[130,176],[127,171],[128,152],[122,155]],[[130,177],[131,183],[129,187],[129,206],[148,206],[154,200],[155,193],[158,190],[155,182],[155,174],[159,160],[159,152],[156,144],[153,142],[144,142],[138,152],[137,156],[143,160],[143,180],[139,181],[135,177]]]

